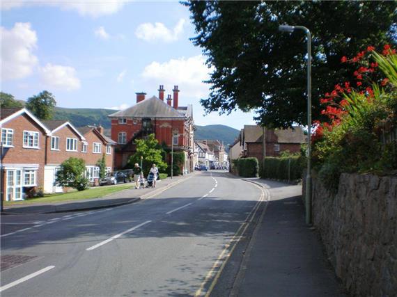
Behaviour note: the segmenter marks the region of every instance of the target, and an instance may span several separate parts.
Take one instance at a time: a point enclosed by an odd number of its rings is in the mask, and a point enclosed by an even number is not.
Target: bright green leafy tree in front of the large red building
[[[150,167],[153,164],[156,164],[159,171],[163,171],[167,168],[166,163],[163,161],[162,154],[164,151],[162,146],[159,145],[159,142],[155,138],[155,134],[149,134],[146,139],[137,139],[135,141],[135,145],[137,145],[137,152],[130,156],[130,159],[127,163],[127,168],[133,168],[134,163],[141,164],[142,159],[142,169],[144,174],[148,174]]]

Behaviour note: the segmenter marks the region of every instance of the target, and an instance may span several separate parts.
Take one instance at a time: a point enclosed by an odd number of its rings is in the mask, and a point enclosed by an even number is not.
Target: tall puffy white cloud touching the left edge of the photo
[[[33,55],[36,48],[36,31],[29,23],[15,23],[13,29],[0,27],[1,79],[22,79],[33,72],[38,58]]]

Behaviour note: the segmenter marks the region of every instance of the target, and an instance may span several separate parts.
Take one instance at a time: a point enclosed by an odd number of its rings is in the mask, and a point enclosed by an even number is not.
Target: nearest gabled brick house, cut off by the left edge
[[[0,109],[0,127],[2,199],[22,200],[44,182],[51,132],[27,109]]]

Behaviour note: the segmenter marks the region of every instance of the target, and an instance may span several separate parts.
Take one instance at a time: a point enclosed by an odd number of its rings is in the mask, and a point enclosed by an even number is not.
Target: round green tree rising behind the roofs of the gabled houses
[[[55,106],[54,95],[46,90],[43,90],[39,95],[30,97],[26,103],[26,108],[40,120],[51,120],[54,116]]]

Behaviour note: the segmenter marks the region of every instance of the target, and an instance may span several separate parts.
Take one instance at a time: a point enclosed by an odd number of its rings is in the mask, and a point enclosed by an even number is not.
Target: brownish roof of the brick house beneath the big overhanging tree
[[[270,132],[269,129],[266,129]],[[277,143],[304,143],[306,136],[302,127],[294,127],[294,129],[274,129],[277,136]],[[244,125],[244,141],[246,143],[262,143],[263,127],[254,125]]]

